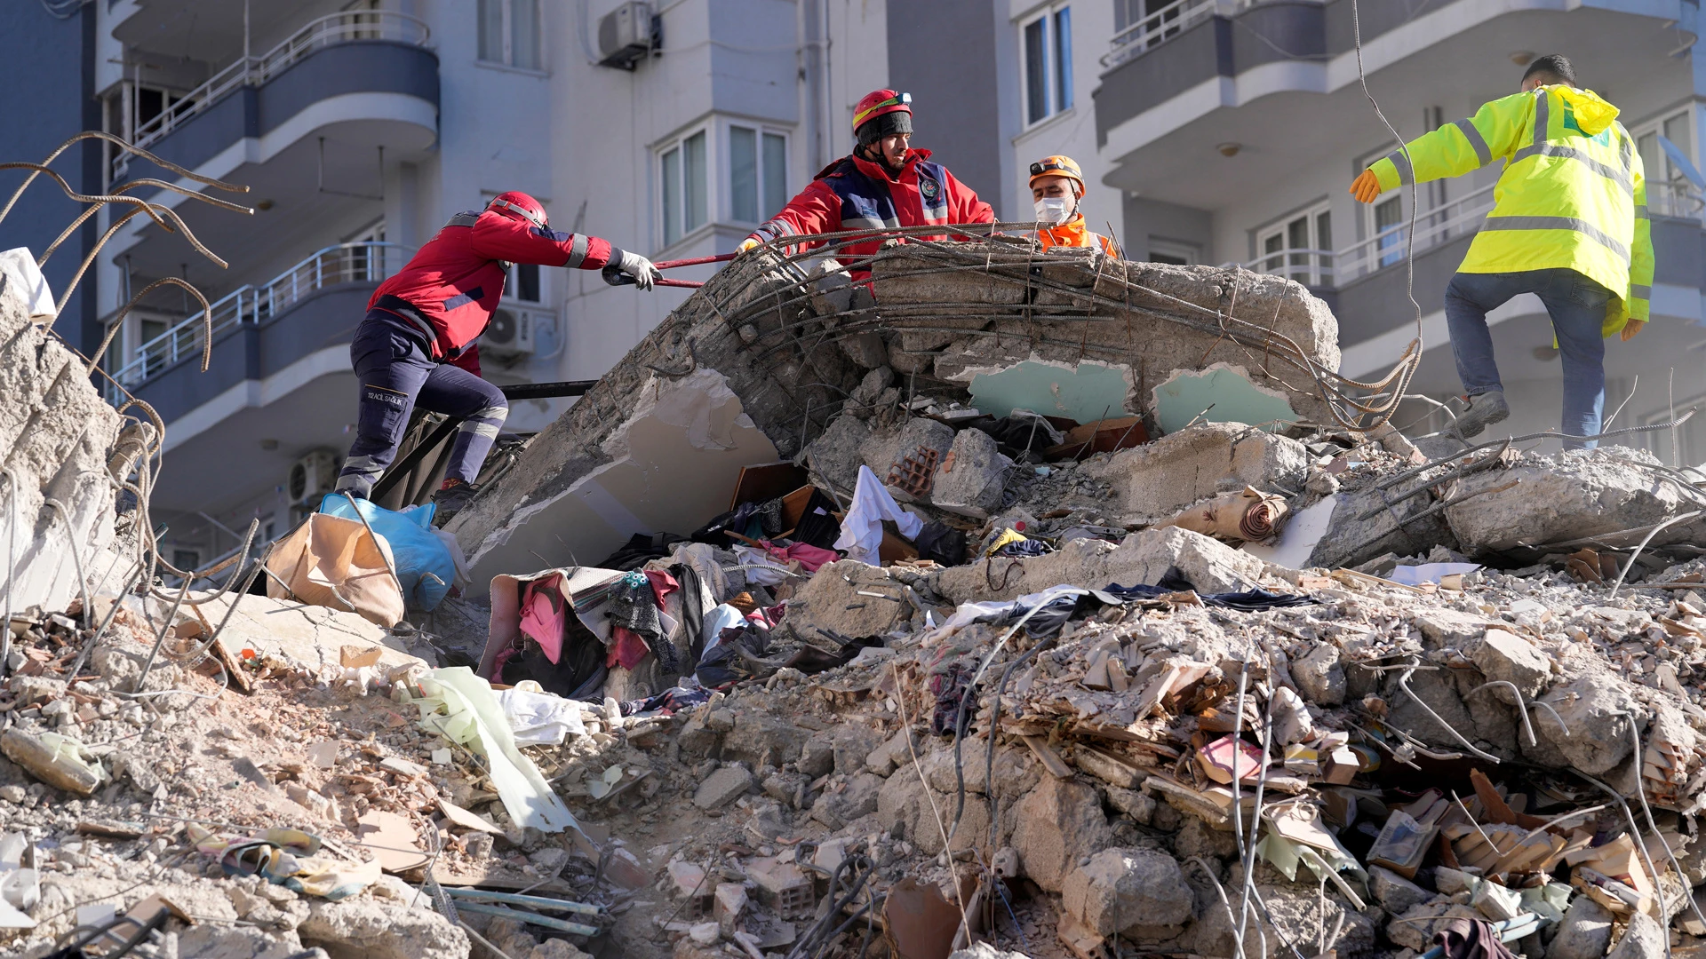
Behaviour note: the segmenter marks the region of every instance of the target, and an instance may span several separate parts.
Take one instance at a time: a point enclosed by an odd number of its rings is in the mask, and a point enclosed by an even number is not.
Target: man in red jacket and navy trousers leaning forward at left
[[[510,413],[503,391],[479,379],[474,340],[486,331],[515,263],[599,270],[614,264],[650,290],[660,273],[647,258],[594,235],[546,224],[525,193],[502,193],[485,210],[450,222],[392,278],[374,290],[355,329],[350,358],[360,384],[355,442],[338,490],[367,497],[397,456],[409,411],[420,404],[459,416],[444,486],[433,493],[438,520],[478,493],[474,478]]]

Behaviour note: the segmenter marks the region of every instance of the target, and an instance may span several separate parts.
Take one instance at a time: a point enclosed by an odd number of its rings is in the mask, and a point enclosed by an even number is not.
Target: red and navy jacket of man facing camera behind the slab
[[[978,193],[960,183],[942,164],[930,162],[930,150],[908,150],[899,176],[880,164],[860,157],[841,157],[824,167],[780,213],[752,232],[763,242],[834,234],[843,230],[892,230],[930,224],[993,224],[995,210],[978,200]],[[911,237],[911,239],[947,239]],[[870,256],[884,237],[841,246],[836,256],[853,259]],[[786,254],[815,246],[802,241],[785,247]],[[853,270],[855,275],[868,270]]]

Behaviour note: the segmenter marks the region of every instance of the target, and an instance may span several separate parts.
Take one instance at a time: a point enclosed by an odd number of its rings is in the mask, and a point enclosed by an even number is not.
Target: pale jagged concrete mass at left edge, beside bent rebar
[[[143,447],[114,450],[118,411],[89,381],[85,360],[31,321],[14,283],[0,288],[0,483],[10,510],[0,517],[10,538],[0,590],[12,609],[61,609],[78,594],[78,560],[94,575],[94,560],[113,543],[107,459],[118,452],[114,471],[130,473]]]

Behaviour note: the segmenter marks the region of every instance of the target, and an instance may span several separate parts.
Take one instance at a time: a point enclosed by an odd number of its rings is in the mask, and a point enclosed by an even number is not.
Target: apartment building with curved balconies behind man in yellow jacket
[[[1124,193],[1138,258],[1239,263],[1307,283],[1334,307],[1351,377],[1378,379],[1419,324],[1426,352],[1411,391],[1445,399],[1460,391],[1445,285],[1501,166],[1423,184],[1414,200],[1397,189],[1356,203],[1351,179],[1396,145],[1363,77],[1409,140],[1517,92],[1534,56],[1564,53],[1636,137],[1658,263],[1653,323],[1607,343],[1605,415],[1622,408],[1614,428],[1667,423],[1672,410],[1706,404],[1697,19],[1694,0],[1361,0],[1355,10],[1353,0],[1119,0],[1099,51],[1104,183]],[[1513,410],[1498,430],[1556,430],[1559,360],[1539,300],[1512,300],[1489,323]],[[1401,425],[1426,413],[1411,404]],[[1706,461],[1706,423],[1617,442]]]

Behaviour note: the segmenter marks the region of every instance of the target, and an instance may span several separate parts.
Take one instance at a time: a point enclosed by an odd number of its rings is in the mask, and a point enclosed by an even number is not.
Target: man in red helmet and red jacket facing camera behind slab
[[[942,164],[930,150],[911,148],[913,96],[872,90],[853,109],[853,154],[829,164],[798,196],[740,242],[740,253],[761,242],[788,241],[783,254],[815,244],[814,234],[884,230],[930,224],[993,224],[995,210]],[[931,235],[920,239],[947,239]],[[836,256],[870,256],[884,237],[841,246]],[[853,270],[863,276],[868,270]]]

